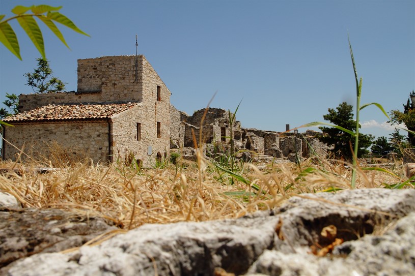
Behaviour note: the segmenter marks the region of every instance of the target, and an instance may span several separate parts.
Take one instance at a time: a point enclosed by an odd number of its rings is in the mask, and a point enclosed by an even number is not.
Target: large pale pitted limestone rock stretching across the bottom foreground
[[[415,272],[415,190],[305,194],[237,220],[144,225],[68,254],[18,260],[8,275],[392,275]],[[345,242],[327,247],[334,225]],[[360,237],[360,238],[359,238]],[[223,271],[221,270],[221,271]]]

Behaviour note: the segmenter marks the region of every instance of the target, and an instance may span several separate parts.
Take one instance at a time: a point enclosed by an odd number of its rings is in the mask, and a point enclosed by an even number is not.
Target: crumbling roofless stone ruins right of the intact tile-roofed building
[[[248,160],[253,156],[263,156],[295,162],[297,158],[300,160],[315,154],[326,157],[329,149],[319,141],[319,135],[323,135],[320,132],[307,130],[294,134],[242,128],[234,114],[220,108],[200,109],[189,116],[171,106],[170,122],[170,148],[176,151],[182,149],[187,159],[196,158],[195,141],[198,145],[214,145],[227,150],[233,144],[233,152],[239,152],[238,156]],[[204,154],[212,156],[213,150],[214,147],[205,146]]]

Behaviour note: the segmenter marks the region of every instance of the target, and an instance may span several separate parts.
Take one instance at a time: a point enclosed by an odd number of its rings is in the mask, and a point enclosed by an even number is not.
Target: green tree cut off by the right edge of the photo
[[[415,92],[409,93],[409,98],[406,104],[403,105],[403,112],[399,110],[391,111],[392,124],[404,124],[410,131],[415,131]],[[408,141],[412,147],[415,147],[415,135],[408,132]]]

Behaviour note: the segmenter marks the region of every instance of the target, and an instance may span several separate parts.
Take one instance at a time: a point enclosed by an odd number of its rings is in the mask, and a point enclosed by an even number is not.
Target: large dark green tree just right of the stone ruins
[[[343,102],[336,109],[329,108],[328,114],[323,115],[323,118],[334,125],[347,130],[352,130],[356,127],[356,121],[353,119],[352,110],[352,105]],[[354,137],[338,128],[319,127],[319,129],[327,134],[319,137],[319,140],[329,146],[333,146],[333,149],[330,149],[330,152],[335,158],[344,158],[346,161],[351,161],[353,159],[351,148],[354,147]],[[366,135],[359,133],[357,157],[361,157],[369,152],[367,148],[372,144],[373,139],[374,137],[370,134]]]

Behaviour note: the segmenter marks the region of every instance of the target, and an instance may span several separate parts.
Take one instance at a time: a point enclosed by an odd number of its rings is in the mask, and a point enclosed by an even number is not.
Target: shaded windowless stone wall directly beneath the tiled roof
[[[11,144],[39,160],[50,155],[51,147],[58,142],[62,149],[74,156],[90,157],[94,162],[108,161],[108,123],[106,121],[48,122],[45,124],[19,124],[5,127],[5,138]],[[16,160],[19,151],[4,143],[4,158]],[[26,158],[24,155],[22,158]]]

